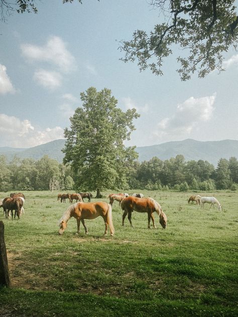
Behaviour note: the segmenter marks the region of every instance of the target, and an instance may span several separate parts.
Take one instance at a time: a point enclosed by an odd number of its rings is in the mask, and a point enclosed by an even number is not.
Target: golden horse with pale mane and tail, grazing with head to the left
[[[85,229],[85,234],[88,234],[87,227],[85,225],[84,219],[95,219],[101,216],[105,223],[105,232],[107,234],[107,226],[109,225],[110,235],[114,235],[114,227],[112,223],[112,212],[111,206],[105,202],[96,203],[75,203],[71,205],[63,214],[59,220],[59,234],[62,235],[64,230],[67,228],[67,222],[71,217],[77,220],[77,233],[80,233],[80,221]]]

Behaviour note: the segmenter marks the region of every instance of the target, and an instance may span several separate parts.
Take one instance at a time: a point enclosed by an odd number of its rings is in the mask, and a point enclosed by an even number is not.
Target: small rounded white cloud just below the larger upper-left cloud
[[[58,72],[50,72],[39,69],[34,73],[33,77],[41,86],[49,89],[55,89],[61,86],[62,76]]]

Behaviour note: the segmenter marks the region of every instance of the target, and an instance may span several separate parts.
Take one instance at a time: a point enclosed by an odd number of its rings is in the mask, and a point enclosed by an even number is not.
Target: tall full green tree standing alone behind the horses
[[[90,87],[81,94],[82,106],[70,117],[63,152],[64,163],[71,163],[80,190],[124,188],[127,185],[129,163],[138,154],[135,146],[126,147],[135,130],[136,109],[123,112],[109,89],[97,91]],[[126,164],[127,163],[127,164]]]

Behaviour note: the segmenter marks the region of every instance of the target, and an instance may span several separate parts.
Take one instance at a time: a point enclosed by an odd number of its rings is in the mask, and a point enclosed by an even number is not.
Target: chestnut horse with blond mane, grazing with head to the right
[[[153,227],[156,228],[153,212],[157,212],[157,214],[160,217],[160,224],[165,229],[167,227],[167,217],[165,213],[163,212],[161,206],[157,201],[155,201],[153,198],[138,198],[129,196],[125,198],[121,203],[121,208],[124,210],[123,214],[123,223],[122,225],[125,226],[124,220],[128,214],[128,220],[131,224],[131,227],[133,227],[132,224],[132,212],[133,210],[139,212],[139,213],[147,213],[148,214],[148,229],[150,229],[150,221],[152,219]]]

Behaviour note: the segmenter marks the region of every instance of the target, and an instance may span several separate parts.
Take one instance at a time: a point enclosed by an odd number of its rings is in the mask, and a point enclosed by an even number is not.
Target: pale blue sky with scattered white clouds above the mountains
[[[224,55],[225,72],[182,82],[176,54],[164,60],[163,76],[120,61],[119,42],[160,21],[148,0],[41,0],[37,7],[36,15],[15,13],[0,22],[0,146],[63,138],[82,105],[80,92],[91,86],[110,89],[118,107],[140,113],[126,145],[238,139],[234,50]]]

